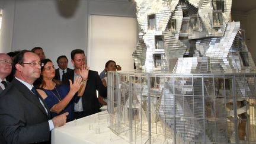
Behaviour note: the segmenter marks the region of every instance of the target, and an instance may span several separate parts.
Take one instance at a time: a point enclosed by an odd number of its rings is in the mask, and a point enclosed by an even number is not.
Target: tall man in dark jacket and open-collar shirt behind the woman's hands
[[[75,49],[71,52],[71,62],[73,63],[74,70],[68,73],[64,73],[62,82],[69,84],[69,79],[73,81],[75,76],[81,75],[81,69],[88,68],[84,50]],[[100,111],[100,103],[96,95],[96,90],[103,97],[107,97],[107,88],[101,82],[98,72],[89,70],[88,78],[84,78],[87,81],[84,94],[75,103],[75,119],[89,116]],[[77,95],[75,95],[77,96]]]

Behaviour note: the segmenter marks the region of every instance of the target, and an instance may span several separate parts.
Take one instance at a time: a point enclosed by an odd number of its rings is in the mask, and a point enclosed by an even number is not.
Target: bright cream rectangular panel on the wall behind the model
[[[132,17],[91,15],[87,52],[90,69],[100,73],[108,60],[114,60],[122,71],[133,70],[136,24],[136,18]]]

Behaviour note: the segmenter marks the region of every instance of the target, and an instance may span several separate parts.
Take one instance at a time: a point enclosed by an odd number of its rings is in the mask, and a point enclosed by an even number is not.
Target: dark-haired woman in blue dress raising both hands
[[[74,120],[73,108],[75,100],[73,96],[76,92],[78,92],[78,97],[84,93],[87,81],[83,81],[82,78],[88,77],[88,68],[80,70],[83,76],[77,76],[73,84],[69,80],[70,84],[65,85],[54,79],[55,67],[50,59],[41,60],[41,63],[44,63],[44,66],[41,67],[37,91],[49,107],[52,117],[69,112],[67,122]]]

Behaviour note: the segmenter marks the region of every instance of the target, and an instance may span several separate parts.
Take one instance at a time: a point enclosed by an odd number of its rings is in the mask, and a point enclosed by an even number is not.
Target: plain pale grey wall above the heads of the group
[[[73,49],[87,54],[90,15],[136,17],[135,3],[117,0],[0,0],[0,7],[0,52],[40,46],[55,65],[57,56],[70,60]]]

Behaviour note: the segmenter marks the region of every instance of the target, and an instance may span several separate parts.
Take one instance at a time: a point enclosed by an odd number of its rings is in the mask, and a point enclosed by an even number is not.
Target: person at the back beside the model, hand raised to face
[[[119,70],[118,70],[119,69]],[[121,70],[121,66],[116,65],[116,62],[114,60],[108,60],[105,63],[105,73],[104,73],[104,77],[101,78],[101,81],[103,82],[103,85],[105,87],[107,87],[107,72],[108,71],[120,71]],[[101,95],[98,95],[98,101],[101,105],[107,105],[107,100],[105,100],[103,97],[101,97]]]

